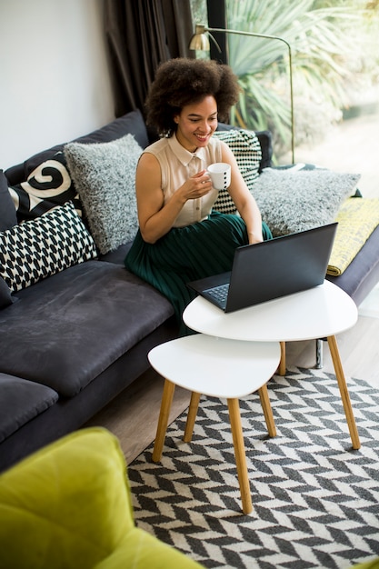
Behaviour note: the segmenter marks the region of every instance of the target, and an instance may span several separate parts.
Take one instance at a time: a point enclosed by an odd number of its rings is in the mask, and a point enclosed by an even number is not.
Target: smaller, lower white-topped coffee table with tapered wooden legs
[[[274,416],[266,383],[280,361],[279,343],[240,342],[212,335],[194,334],[157,345],[150,351],[148,358],[158,374],[165,377],[153,461],[161,460],[175,385],[192,392],[185,425],[184,440],[187,443],[192,439],[201,394],[225,398],[233,435],[242,509],[244,514],[249,514],[253,505],[238,399],[257,391],[268,434],[275,436]]]

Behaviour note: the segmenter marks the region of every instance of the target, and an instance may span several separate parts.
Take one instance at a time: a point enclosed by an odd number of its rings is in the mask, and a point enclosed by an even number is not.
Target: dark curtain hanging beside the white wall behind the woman
[[[105,0],[105,34],[115,90],[115,115],[139,108],[155,69],[172,57],[193,57],[189,0]]]

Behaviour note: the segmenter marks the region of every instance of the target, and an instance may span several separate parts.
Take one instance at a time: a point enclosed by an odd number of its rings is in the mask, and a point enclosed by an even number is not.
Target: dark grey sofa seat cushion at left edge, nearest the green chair
[[[0,390],[0,443],[58,400],[45,385],[1,373]]]

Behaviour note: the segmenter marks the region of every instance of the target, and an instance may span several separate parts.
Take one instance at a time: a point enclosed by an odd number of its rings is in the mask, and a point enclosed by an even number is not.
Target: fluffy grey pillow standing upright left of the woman
[[[138,229],[135,168],[141,154],[133,135],[107,143],[65,145],[70,174],[103,255],[133,239]]]

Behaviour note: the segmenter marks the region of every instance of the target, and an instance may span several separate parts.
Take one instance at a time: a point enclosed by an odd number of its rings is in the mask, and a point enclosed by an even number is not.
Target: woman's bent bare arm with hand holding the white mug
[[[164,204],[161,167],[155,155],[141,156],[135,175],[138,223],[146,243],[154,244],[173,227],[185,202],[197,199],[212,190],[209,176],[203,170],[188,178]]]

